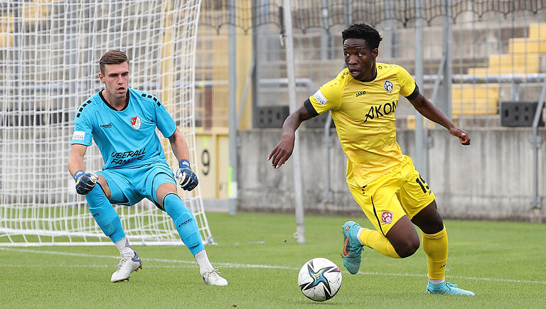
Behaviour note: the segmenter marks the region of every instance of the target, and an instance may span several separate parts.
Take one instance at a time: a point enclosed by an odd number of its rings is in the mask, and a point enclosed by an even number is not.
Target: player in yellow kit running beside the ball
[[[419,248],[413,224],[421,229],[427,254],[427,293],[474,293],[445,281],[447,234],[434,193],[404,156],[396,141],[395,111],[400,95],[428,119],[444,126],[463,145],[470,137],[419,92],[410,73],[399,65],[376,63],[381,36],[366,24],[342,33],[346,69],[311,95],[282,126],[282,139],[269,155],[279,168],[294,150],[294,132],[302,121],[331,111],[347,160],[350,192],[375,229],[343,224],[343,264],[350,273],[360,267],[362,247],[385,256],[405,258]]]

